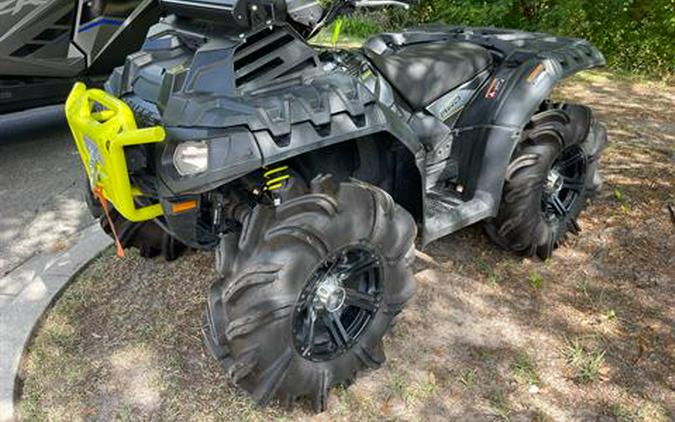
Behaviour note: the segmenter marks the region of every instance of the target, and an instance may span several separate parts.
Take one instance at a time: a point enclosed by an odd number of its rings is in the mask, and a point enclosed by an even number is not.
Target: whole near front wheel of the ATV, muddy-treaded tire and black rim
[[[382,337],[412,297],[415,223],[361,183],[259,205],[229,276],[211,287],[204,336],[229,379],[261,405],[309,396],[385,359]]]

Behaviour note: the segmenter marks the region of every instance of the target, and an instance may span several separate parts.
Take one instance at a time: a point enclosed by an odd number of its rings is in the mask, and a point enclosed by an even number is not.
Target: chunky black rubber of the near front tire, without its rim
[[[312,193],[281,206],[259,205],[244,223],[230,274],[211,286],[204,337],[228,378],[260,405],[309,397],[326,408],[332,386],[351,384],[385,360],[382,337],[415,289],[416,225],[383,190],[358,181],[317,178]],[[381,257],[382,302],[346,352],[312,361],[294,345],[293,314],[314,270],[346,245]]]

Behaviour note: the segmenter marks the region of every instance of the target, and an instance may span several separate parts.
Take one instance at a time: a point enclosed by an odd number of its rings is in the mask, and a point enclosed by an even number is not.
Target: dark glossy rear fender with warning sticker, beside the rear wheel
[[[532,57],[515,69],[508,62],[498,68],[455,127],[453,155],[462,163],[459,184],[467,198],[489,198],[492,216],[499,208],[511,156],[532,115],[563,78],[604,63],[604,59],[589,60],[587,67],[572,72],[561,58],[543,56]]]

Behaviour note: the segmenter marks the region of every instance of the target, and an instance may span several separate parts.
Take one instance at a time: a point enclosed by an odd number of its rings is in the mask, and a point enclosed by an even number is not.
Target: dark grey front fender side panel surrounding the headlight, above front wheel
[[[230,129],[167,128],[167,143],[162,153],[160,177],[164,194],[201,193],[235,180],[247,173],[286,161],[306,152],[339,144],[368,135],[388,133],[415,157],[418,170],[422,166],[423,149],[416,135],[389,115],[378,103],[370,103],[360,115],[336,112],[325,124],[317,126],[311,119],[292,124],[286,135],[275,136],[266,129],[249,131],[244,127]],[[171,157],[175,142],[188,139],[206,140],[210,145],[209,170],[197,176],[181,177]],[[421,173],[421,172],[420,172]]]

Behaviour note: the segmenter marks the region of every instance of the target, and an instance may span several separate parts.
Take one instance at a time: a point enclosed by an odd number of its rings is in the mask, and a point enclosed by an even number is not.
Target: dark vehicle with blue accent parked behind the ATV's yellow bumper
[[[102,86],[159,17],[157,0],[0,0],[0,113]]]

